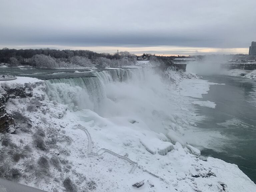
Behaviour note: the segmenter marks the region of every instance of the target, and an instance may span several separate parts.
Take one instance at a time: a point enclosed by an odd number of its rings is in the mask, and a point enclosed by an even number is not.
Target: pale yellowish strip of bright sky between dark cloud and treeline
[[[96,53],[116,53],[128,51],[137,56],[152,54],[156,56],[189,56],[210,54],[248,54],[249,48],[211,48],[211,47],[184,47],[184,46],[67,46],[67,45],[0,45],[0,49],[57,49],[57,50],[89,50]]]

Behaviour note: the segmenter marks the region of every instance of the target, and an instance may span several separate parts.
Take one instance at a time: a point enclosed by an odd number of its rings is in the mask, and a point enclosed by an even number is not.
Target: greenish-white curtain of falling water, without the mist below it
[[[111,82],[125,82],[144,77],[141,69],[110,69],[94,72],[92,77],[61,78],[45,80],[50,100],[71,104],[79,108],[99,111],[106,101],[106,85]]]

